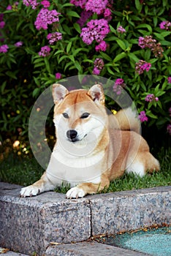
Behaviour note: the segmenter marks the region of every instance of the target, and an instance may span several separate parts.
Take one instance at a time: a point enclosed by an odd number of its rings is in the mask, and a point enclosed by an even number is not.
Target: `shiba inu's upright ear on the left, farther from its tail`
[[[69,94],[69,91],[64,86],[58,83],[53,84],[53,101],[55,104],[61,102],[66,97],[66,94]]]

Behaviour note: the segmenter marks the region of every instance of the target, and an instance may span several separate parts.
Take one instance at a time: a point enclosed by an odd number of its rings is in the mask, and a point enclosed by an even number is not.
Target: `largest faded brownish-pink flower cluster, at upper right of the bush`
[[[153,37],[151,37],[151,36],[139,37],[138,45],[142,49],[143,48],[151,49],[155,57],[157,57],[157,56],[162,57],[163,56],[162,53],[163,53],[164,50],[161,47],[161,43],[160,42],[156,43],[156,39],[153,39]]]

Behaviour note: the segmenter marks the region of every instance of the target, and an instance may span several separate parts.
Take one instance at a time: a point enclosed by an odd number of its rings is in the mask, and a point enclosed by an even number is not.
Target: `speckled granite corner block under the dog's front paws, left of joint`
[[[4,186],[4,184],[2,184]],[[83,241],[91,236],[87,199],[66,200],[46,192],[20,198],[20,188],[0,189],[0,245],[31,255],[42,255],[50,242]],[[4,194],[4,195],[3,195]]]

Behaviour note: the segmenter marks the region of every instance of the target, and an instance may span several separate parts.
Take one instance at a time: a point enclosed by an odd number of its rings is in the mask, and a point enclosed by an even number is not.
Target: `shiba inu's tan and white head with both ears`
[[[74,91],[53,84],[53,100],[57,137],[77,143],[88,136],[98,137],[106,127],[104,91],[99,84]]]

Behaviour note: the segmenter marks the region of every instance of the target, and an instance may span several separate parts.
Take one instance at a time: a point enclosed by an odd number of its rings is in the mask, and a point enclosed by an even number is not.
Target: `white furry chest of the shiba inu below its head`
[[[53,183],[64,181],[75,186],[81,182],[100,182],[104,152],[85,157],[66,157],[62,153],[58,150],[53,151],[46,170],[48,178]]]

